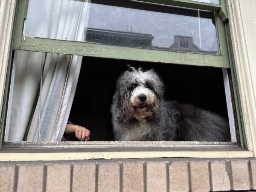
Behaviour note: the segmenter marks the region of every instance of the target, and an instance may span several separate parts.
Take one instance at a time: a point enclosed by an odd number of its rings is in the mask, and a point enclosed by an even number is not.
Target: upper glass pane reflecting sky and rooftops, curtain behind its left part
[[[218,55],[214,13],[144,6],[129,0],[29,0],[24,35]],[[73,38],[77,28],[80,33]]]

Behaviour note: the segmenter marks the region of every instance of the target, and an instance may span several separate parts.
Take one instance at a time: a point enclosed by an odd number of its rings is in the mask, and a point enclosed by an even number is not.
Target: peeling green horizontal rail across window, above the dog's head
[[[21,47],[26,51],[52,52],[59,54],[84,55],[102,58],[128,59],[170,64],[187,64],[230,68],[227,56],[205,55],[189,52],[171,52],[112,45],[24,37]]]

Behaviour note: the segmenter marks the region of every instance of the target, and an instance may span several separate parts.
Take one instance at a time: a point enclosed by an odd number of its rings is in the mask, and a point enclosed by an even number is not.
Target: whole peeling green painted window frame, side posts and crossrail
[[[84,55],[102,58],[117,58],[117,59],[128,59],[136,61],[151,61],[161,63],[172,63],[172,64],[185,64],[185,65],[196,65],[196,66],[211,66],[211,67],[222,67],[230,68],[232,79],[233,79],[233,90],[235,108],[237,111],[238,119],[238,130],[240,145],[242,148],[246,148],[246,140],[243,122],[241,122],[241,102],[239,100],[239,90],[236,86],[236,73],[233,66],[233,55],[232,49],[230,48],[230,30],[228,24],[227,7],[225,0],[220,0],[220,4],[202,3],[192,0],[131,0],[136,2],[163,4],[169,6],[179,6],[190,9],[201,9],[207,11],[216,12],[216,28],[217,37],[219,44],[220,55],[205,55],[198,53],[188,52],[172,52],[163,50],[150,50],[141,48],[131,47],[116,47],[112,45],[94,44],[87,42],[76,42],[76,41],[65,41],[65,40],[53,40],[46,38],[30,38],[23,37],[23,24],[26,19],[26,13],[28,8],[29,0],[17,0],[15,24],[12,34],[12,49],[9,56],[9,67],[8,71],[11,70],[12,62],[12,51],[13,50],[26,50],[26,51],[37,51],[37,52],[51,52],[59,54],[71,54],[71,55]],[[0,147],[3,141],[3,129],[4,119],[6,116],[7,98],[8,98],[8,84],[9,84],[10,73],[6,77],[6,90],[4,95],[4,106],[3,113],[1,116],[1,135],[0,135]]]

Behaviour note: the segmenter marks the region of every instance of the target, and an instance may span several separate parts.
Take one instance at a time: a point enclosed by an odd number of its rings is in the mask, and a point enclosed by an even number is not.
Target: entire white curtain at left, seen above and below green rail
[[[27,31],[82,41],[90,0],[30,0]],[[73,102],[82,56],[16,51],[6,141],[60,141]]]

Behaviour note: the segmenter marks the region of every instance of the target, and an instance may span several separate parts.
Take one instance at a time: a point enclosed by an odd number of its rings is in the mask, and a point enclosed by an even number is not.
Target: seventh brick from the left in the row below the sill
[[[151,191],[167,191],[165,161],[147,161],[147,192]]]

